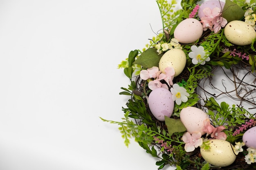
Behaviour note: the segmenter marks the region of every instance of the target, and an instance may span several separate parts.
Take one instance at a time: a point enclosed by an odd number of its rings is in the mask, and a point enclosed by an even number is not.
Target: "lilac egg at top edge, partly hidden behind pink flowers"
[[[225,5],[225,2],[222,2],[219,0],[209,0],[209,1],[203,2],[198,9],[198,17],[202,18],[205,16],[204,11],[203,11],[204,8],[208,7],[210,9],[213,9],[213,8],[218,7],[220,9],[223,9],[224,5]]]

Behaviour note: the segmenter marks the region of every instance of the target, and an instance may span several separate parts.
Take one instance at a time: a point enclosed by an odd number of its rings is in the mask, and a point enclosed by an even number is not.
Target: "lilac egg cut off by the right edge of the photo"
[[[256,126],[249,128],[243,135],[245,146],[256,148]]]

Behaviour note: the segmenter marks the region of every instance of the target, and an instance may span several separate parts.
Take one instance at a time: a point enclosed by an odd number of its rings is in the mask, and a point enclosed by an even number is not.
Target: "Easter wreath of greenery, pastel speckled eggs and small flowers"
[[[256,169],[256,0],[182,0],[177,11],[175,0],[156,2],[162,32],[119,64],[130,79],[123,121],[101,119],[159,158],[158,169]],[[238,104],[217,102],[223,95]]]

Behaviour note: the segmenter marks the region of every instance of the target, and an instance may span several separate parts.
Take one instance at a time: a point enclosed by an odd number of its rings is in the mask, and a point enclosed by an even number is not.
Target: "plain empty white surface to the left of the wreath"
[[[117,65],[161,29],[155,0],[0,1],[0,170],[156,170],[117,125]],[[174,169],[174,168],[168,168]]]

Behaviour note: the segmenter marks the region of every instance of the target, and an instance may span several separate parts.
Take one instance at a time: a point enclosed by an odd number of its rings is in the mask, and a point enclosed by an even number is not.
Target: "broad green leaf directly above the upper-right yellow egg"
[[[245,15],[245,11],[235,2],[226,0],[222,15],[223,18],[227,20],[227,22],[230,22],[233,20],[241,20]]]

